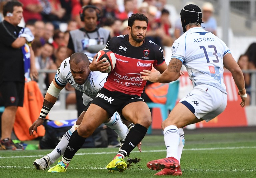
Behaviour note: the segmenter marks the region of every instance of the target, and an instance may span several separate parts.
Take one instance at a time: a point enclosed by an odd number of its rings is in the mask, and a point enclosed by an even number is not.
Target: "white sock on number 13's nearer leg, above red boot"
[[[164,142],[166,146],[166,157],[178,158],[179,130],[175,125],[164,128]]]

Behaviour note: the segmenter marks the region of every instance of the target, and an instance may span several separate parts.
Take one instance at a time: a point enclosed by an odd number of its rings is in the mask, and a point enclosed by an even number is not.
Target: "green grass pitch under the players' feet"
[[[255,178],[256,177],[256,130],[232,133],[186,134],[181,157],[182,177],[204,178]],[[37,144],[38,141],[25,143]],[[113,159],[118,148],[85,148],[74,156],[65,173],[38,171],[33,161],[52,150],[0,151],[0,177],[157,177],[147,168],[150,160],[164,158],[166,149],[162,135],[146,135],[142,140],[142,153],[137,148],[129,158],[140,159],[131,163],[124,172],[108,173],[105,166]],[[53,164],[56,165],[57,161]]]

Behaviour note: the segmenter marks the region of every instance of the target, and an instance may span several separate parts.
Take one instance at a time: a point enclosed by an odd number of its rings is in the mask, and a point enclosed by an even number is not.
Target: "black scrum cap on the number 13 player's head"
[[[180,17],[181,17],[181,23],[183,32],[186,32],[186,26],[190,23],[202,23],[202,11],[201,9],[194,4],[186,5],[181,11],[180,11]]]

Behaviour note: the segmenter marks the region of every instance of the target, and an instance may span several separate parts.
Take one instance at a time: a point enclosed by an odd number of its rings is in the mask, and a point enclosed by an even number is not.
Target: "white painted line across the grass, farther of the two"
[[[240,146],[240,147],[219,147],[219,148],[190,148],[190,149],[183,149],[183,151],[201,151],[201,150],[224,150],[224,149],[253,149],[256,146]],[[163,152],[166,150],[146,150],[142,151],[143,153],[147,152]],[[94,154],[115,154],[115,152],[95,152],[95,153],[76,153],[75,155],[94,155]],[[133,151],[133,153],[139,153],[139,151]],[[4,158],[31,158],[31,157],[43,157],[45,155],[30,155],[30,156],[0,156],[0,159]]]

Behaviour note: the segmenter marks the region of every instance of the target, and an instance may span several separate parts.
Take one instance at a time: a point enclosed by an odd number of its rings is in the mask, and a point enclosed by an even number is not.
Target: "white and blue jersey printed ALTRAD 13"
[[[210,85],[227,93],[223,83],[223,56],[230,53],[227,45],[201,27],[189,29],[172,46],[172,57],[182,61],[193,88]]]

